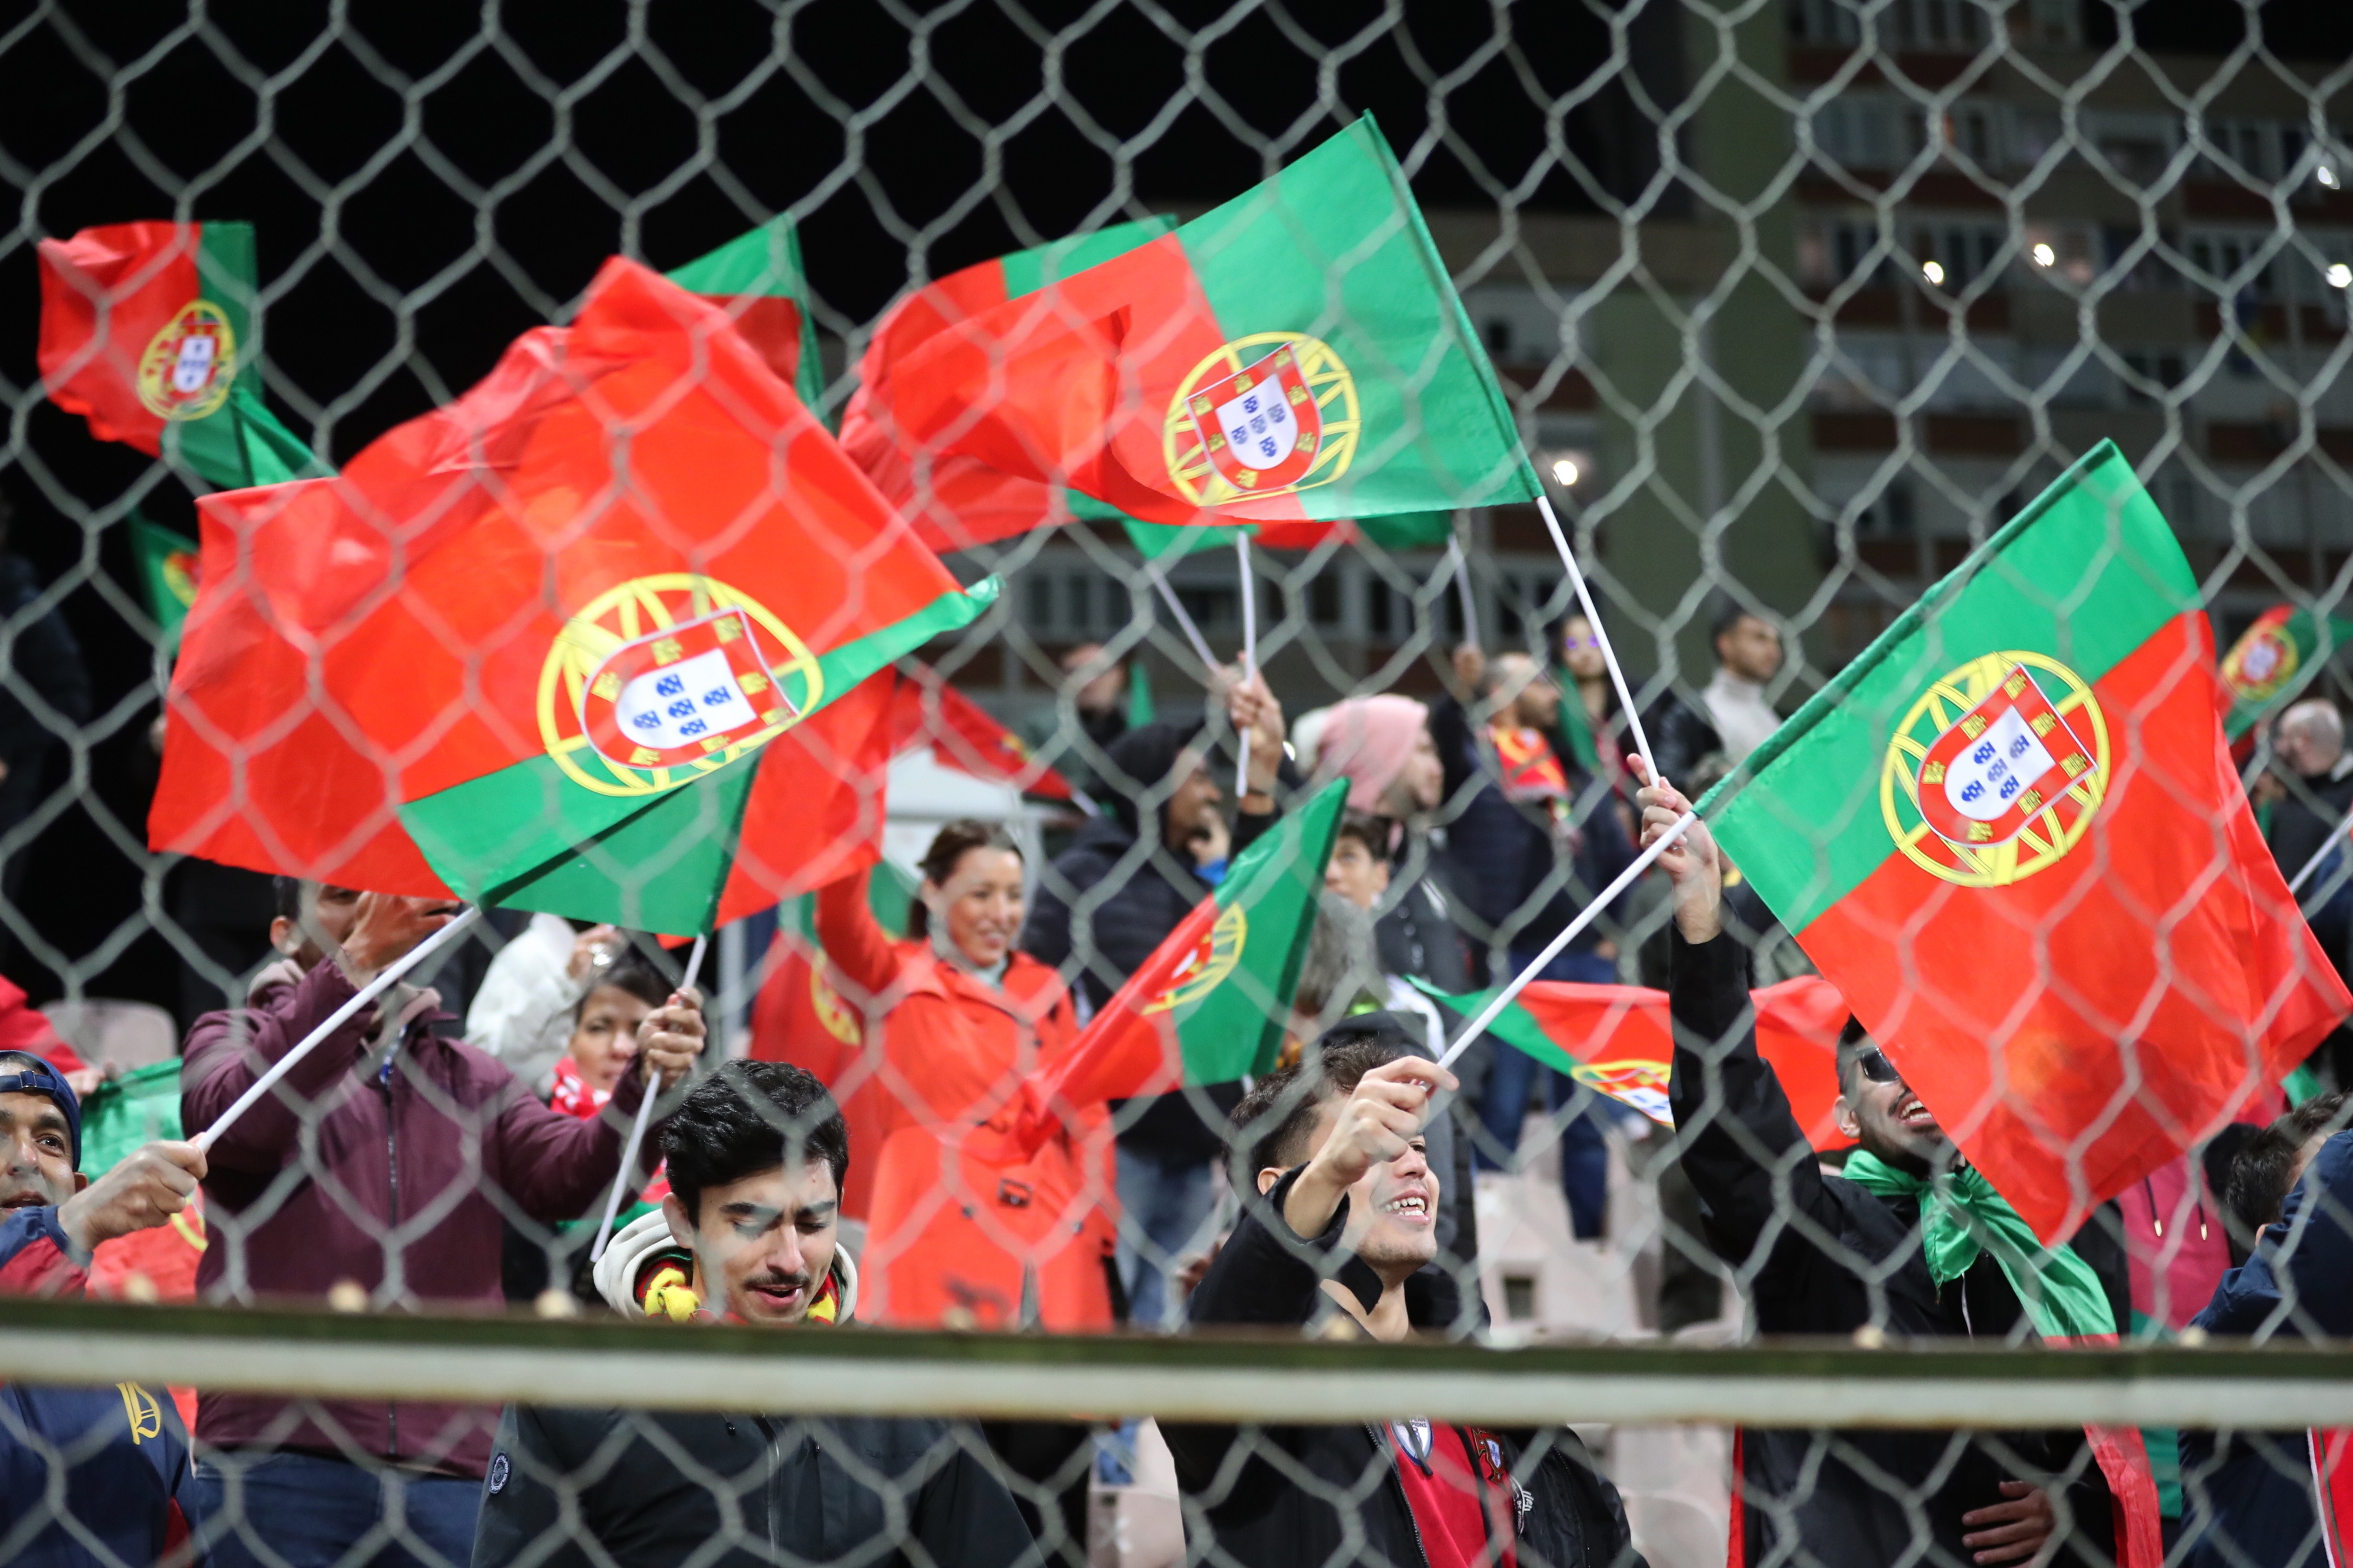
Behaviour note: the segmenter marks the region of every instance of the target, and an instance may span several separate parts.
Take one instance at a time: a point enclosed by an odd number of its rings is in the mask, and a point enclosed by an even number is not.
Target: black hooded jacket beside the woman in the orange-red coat
[[[1209,883],[1165,848],[1165,800],[1153,808],[1151,843],[1144,845],[1136,791],[1120,782],[1125,777],[1160,793],[1188,742],[1191,732],[1169,723],[1122,735],[1111,746],[1104,815],[1089,817],[1038,881],[1038,897],[1021,925],[1021,951],[1068,975],[1089,1008],[1108,1003],[1193,906],[1209,897]],[[1217,768],[1214,760],[1209,765]],[[1278,815],[1240,812],[1231,855],[1254,845]],[[1144,1107],[1120,1104],[1118,1137],[1129,1149],[1207,1163],[1226,1147],[1226,1116],[1240,1102],[1238,1083],[1214,1083],[1155,1095]]]

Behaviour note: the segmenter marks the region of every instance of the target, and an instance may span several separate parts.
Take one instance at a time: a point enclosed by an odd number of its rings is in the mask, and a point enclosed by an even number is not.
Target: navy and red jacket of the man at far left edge
[[[87,1276],[54,1208],[0,1220],[0,1290],[80,1295]],[[66,1467],[64,1514],[49,1509],[52,1457]],[[66,1528],[96,1535],[104,1554]],[[0,1535],[42,1519],[9,1568],[153,1563],[195,1528],[188,1429],[169,1391],[136,1382],[101,1389],[0,1387]]]

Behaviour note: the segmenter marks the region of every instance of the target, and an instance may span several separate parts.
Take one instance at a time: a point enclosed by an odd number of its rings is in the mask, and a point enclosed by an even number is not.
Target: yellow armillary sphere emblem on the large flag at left
[[[791,626],[692,572],[607,589],[539,666],[539,739],[574,784],[656,796],[798,725],[826,680]]]

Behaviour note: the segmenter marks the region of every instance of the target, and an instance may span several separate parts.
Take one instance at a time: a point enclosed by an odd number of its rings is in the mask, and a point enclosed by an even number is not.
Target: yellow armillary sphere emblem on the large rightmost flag
[[[2082,843],[2108,796],[2108,720],[2038,652],[1991,652],[1913,702],[1880,768],[1897,848],[1962,888],[2007,888]]]

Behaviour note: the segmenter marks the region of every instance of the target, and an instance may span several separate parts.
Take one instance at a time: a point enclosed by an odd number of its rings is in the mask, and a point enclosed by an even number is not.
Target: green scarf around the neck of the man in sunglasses
[[[1882,1198],[1913,1198],[1920,1205],[1920,1245],[1939,1288],[1967,1274],[1977,1255],[1991,1248],[2040,1337],[2115,1335],[2115,1311],[2108,1309],[2108,1293],[2099,1288],[2092,1264],[2075,1248],[2045,1248],[2019,1210],[2009,1208],[2009,1198],[1993,1191],[1993,1182],[1974,1165],[1929,1180],[1857,1149],[1842,1175]]]

